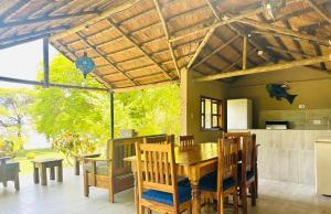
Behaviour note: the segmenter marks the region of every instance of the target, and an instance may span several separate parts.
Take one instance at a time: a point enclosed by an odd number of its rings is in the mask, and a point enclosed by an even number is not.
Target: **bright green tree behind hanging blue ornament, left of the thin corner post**
[[[39,78],[43,78],[42,72]],[[94,78],[84,79],[74,64],[56,55],[50,64],[50,82],[97,86]],[[55,138],[64,132],[89,133],[104,140],[109,137],[109,98],[104,92],[36,87],[32,114],[39,132]]]

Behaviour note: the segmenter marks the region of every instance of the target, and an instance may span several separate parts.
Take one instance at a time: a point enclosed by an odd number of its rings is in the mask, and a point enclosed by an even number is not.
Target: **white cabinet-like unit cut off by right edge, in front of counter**
[[[317,193],[331,195],[331,139],[316,141]]]

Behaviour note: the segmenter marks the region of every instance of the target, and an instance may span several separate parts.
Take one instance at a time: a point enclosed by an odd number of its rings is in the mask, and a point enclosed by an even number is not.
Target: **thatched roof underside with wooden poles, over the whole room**
[[[93,75],[111,88],[175,82],[185,67],[201,75],[242,69],[245,35],[247,68],[331,54],[330,0],[0,2],[0,49],[52,35],[72,61],[93,57]],[[331,71],[331,63],[312,66]]]

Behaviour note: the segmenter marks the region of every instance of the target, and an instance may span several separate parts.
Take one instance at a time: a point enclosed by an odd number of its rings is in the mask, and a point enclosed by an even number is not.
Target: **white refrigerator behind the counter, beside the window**
[[[253,105],[250,99],[227,99],[227,130],[252,129]]]

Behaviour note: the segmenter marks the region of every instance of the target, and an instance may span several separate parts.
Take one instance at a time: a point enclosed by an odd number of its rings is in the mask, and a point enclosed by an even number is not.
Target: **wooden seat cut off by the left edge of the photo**
[[[20,163],[18,162],[7,162],[10,157],[0,158],[0,182],[3,186],[7,186],[8,181],[14,182],[14,189],[20,190]]]

